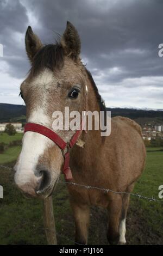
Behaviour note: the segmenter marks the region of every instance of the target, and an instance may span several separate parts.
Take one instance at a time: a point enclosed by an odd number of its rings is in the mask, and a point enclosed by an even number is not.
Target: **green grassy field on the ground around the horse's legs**
[[[11,149],[11,148],[10,148]],[[15,152],[18,152],[16,149]],[[161,148],[147,149],[146,169],[137,182],[134,192],[143,196],[158,198],[158,187],[163,185],[163,152]],[[15,156],[10,151],[9,160]],[[7,152],[5,152],[7,154]],[[14,156],[13,156],[14,154]],[[17,154],[17,153],[16,153]],[[13,166],[4,157],[6,166]],[[61,178],[63,180],[63,177]],[[4,188],[4,199],[0,199],[0,244],[1,245],[45,245],[42,202],[26,199],[14,184],[12,170],[0,167],[0,185]],[[53,195],[58,243],[73,245],[74,222],[64,183],[59,183]],[[163,244],[163,200],[148,202],[131,196],[127,217],[127,241],[130,245]],[[104,209],[91,208],[89,244],[107,245]],[[99,225],[100,223],[100,225]],[[72,240],[72,241],[71,241]]]

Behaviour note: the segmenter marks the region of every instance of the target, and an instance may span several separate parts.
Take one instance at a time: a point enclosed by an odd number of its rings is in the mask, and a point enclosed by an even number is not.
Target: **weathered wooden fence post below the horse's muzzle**
[[[43,200],[43,222],[48,245],[57,245],[52,196]]]

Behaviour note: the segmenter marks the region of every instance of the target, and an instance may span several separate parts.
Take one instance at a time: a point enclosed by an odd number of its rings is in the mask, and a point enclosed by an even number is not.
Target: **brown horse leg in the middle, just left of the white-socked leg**
[[[112,200],[110,200],[108,206],[108,241],[111,245],[117,244],[120,234],[119,234],[119,225],[121,219],[121,210],[122,210],[122,196],[120,194],[116,194],[113,196]]]

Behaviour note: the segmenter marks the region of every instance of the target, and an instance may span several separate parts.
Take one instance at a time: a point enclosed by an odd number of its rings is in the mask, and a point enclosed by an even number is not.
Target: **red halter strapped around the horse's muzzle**
[[[49,139],[51,139],[54,143],[58,145],[58,147],[62,151],[62,155],[64,156],[64,167],[62,172],[65,174],[65,179],[66,180],[71,180],[72,179],[72,173],[71,169],[69,166],[70,162],[70,152],[69,149],[73,147],[73,145],[78,141],[80,132],[82,129],[77,130],[76,133],[71,138],[70,142],[65,142],[57,133],[52,131],[51,129],[48,129],[47,127],[40,125],[40,124],[34,124],[34,123],[27,123],[24,126],[24,132],[32,131],[32,132],[37,132],[40,133]],[[64,150],[67,148],[66,154],[64,154]]]

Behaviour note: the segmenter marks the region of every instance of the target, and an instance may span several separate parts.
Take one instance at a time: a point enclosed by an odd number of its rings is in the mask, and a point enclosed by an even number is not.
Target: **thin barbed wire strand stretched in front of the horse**
[[[12,170],[12,169],[13,169],[13,168],[8,167],[8,166],[1,166],[1,165],[0,165],[0,167],[1,167],[1,168],[4,168],[4,169],[9,169],[9,170]],[[111,190],[110,188],[102,188],[102,187],[96,187],[96,186],[86,186],[86,185],[83,185],[83,184],[78,184],[78,183],[76,183],[76,182],[69,182],[69,181],[61,181],[61,180],[60,180],[59,183],[64,183],[64,184],[68,184],[68,185],[83,187],[83,188],[86,188],[87,190],[89,190],[89,189],[100,190],[100,191],[103,191],[103,192],[105,192],[105,193],[112,192],[112,193],[114,193],[114,194],[128,194],[128,195],[130,195],[130,196],[135,196],[135,197],[138,197],[138,198],[140,198],[140,199],[148,200],[149,202],[160,202],[160,203],[163,203],[163,200],[156,199],[156,198],[154,198],[153,196],[152,196],[152,197],[142,196],[142,195],[139,194],[139,193],[114,191],[114,190]]]

